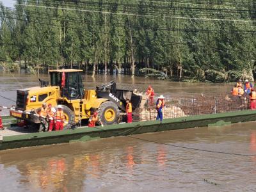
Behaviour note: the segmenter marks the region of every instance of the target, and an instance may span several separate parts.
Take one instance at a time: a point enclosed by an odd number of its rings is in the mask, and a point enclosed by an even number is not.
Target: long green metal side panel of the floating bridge
[[[234,124],[256,120],[256,111],[236,111],[211,115],[187,116],[182,118],[159,121],[134,122],[132,124],[115,124],[104,127],[81,127],[65,131],[35,132],[16,136],[4,136],[0,141],[0,150],[36,145],[49,145],[75,141],[97,140],[112,136],[126,136],[147,132],[188,129],[192,127],[207,127],[212,125]]]

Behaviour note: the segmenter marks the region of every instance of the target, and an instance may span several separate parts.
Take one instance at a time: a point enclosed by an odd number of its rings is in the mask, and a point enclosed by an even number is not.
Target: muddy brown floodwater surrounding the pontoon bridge
[[[0,74],[0,93],[15,100],[38,78]],[[46,76],[44,76],[46,77]],[[228,92],[232,84],[173,83],[128,76],[84,77],[86,88],[115,80],[170,97]],[[3,97],[0,105],[11,106]],[[8,113],[8,111],[2,111]],[[0,152],[0,191],[255,191],[256,157],[216,154],[170,145],[256,155],[255,122],[106,138]],[[143,140],[140,140],[143,139]],[[157,144],[145,140],[166,143]]]

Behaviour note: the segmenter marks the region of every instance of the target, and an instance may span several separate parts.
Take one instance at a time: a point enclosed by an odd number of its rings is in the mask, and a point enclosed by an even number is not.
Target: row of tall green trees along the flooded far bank
[[[5,70],[16,61],[27,67],[65,65],[105,72],[121,72],[133,63],[136,72],[153,68],[179,79],[253,80],[252,0],[17,0],[15,10],[0,9],[0,60]]]

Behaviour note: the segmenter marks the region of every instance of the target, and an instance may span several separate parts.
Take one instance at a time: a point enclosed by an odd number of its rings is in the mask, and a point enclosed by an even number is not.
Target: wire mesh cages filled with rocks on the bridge
[[[250,109],[250,99],[247,95],[243,97],[232,97],[224,93],[219,95],[200,94],[182,98],[170,97],[164,99],[164,101],[163,118],[177,118]],[[156,104],[146,104],[145,108],[136,109],[133,115],[134,121],[156,120]]]

